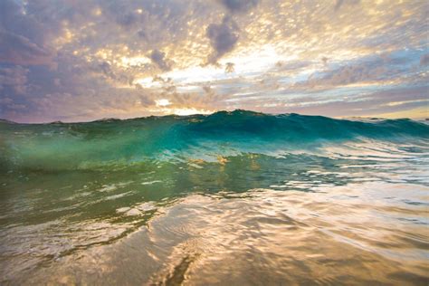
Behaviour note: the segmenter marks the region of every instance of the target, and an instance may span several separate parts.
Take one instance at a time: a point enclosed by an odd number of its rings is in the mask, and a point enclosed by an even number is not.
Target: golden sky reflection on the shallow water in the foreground
[[[428,191],[364,182],[188,195],[158,209],[140,231],[63,257],[24,281],[425,285],[428,208],[406,198]]]

